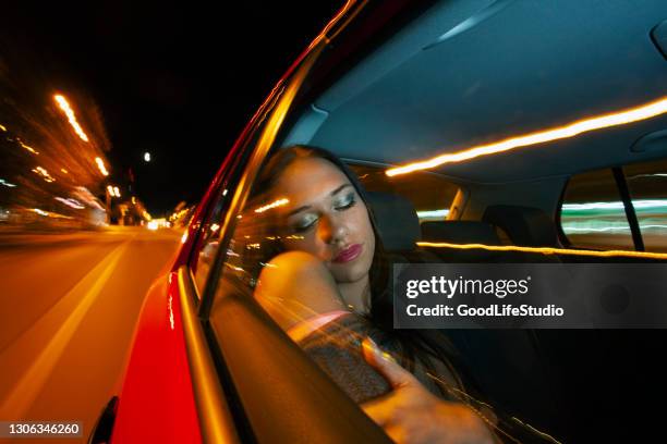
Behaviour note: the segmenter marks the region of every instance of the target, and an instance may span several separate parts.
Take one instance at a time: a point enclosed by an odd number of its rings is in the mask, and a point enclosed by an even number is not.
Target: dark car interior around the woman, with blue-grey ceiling
[[[316,146],[343,159],[369,192],[386,249],[408,261],[664,261],[665,110],[402,175],[386,172],[664,102],[667,59],[652,32],[665,18],[664,1],[439,2],[301,106],[278,145]],[[603,173],[611,177],[604,189]],[[632,178],[642,174],[650,182],[643,188]],[[621,203],[623,195],[634,208]],[[648,212],[640,199],[653,202]],[[581,207],[596,202],[617,214]],[[642,222],[646,214],[651,226]],[[621,224],[623,238],[595,231],[595,223]],[[645,245],[631,233],[638,230]],[[602,250],[621,251],[581,254]],[[663,331],[442,334],[489,403],[565,442],[618,437],[607,424],[647,403],[667,370],[655,362]]]

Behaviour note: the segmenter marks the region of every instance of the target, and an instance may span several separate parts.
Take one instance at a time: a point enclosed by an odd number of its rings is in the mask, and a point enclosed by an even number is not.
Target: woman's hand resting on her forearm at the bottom
[[[368,338],[364,358],[393,391],[362,408],[397,443],[493,443],[486,424],[462,404],[449,403],[428,392],[410,372],[383,354]]]

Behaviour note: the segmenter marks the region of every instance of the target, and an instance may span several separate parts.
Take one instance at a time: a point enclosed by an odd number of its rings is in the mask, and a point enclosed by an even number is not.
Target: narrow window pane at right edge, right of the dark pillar
[[[667,251],[667,159],[623,168],[646,251]]]

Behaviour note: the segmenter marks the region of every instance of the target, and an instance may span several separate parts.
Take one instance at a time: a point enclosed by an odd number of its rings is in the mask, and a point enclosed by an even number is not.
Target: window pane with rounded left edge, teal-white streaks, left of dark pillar
[[[560,226],[574,247],[634,249],[611,170],[586,172],[570,178],[560,209]]]

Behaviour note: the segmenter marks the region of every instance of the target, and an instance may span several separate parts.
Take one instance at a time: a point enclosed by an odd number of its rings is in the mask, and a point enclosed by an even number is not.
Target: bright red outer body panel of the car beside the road
[[[130,355],[113,443],[202,441],[175,273],[160,278],[142,307]]]

